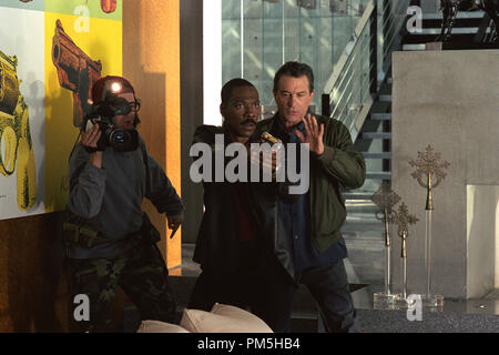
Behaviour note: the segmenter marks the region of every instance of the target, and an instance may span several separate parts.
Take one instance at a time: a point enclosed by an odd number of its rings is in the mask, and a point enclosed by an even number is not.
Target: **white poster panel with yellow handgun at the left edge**
[[[0,0],[2,220],[44,213],[43,44],[40,3]]]

